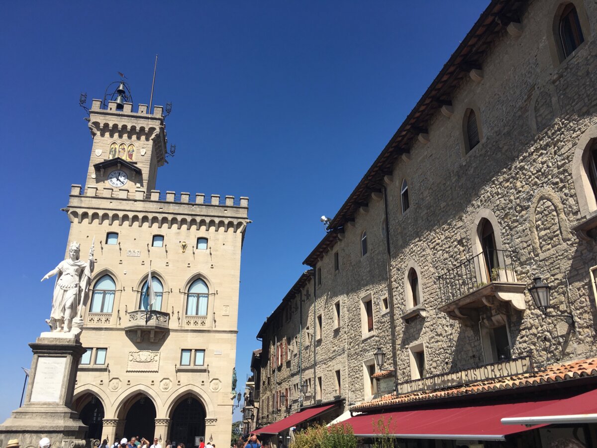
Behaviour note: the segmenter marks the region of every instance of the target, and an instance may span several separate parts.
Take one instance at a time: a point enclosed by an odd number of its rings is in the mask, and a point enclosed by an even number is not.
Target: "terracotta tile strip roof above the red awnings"
[[[373,377],[384,378],[385,376],[389,376],[390,373],[392,372],[378,372],[375,373]],[[553,364],[552,366],[547,366],[543,370],[538,370],[537,372],[533,373],[524,373],[522,375],[513,375],[504,378],[487,379],[463,386],[410,392],[408,394],[402,394],[399,397],[396,397],[396,393],[392,392],[392,394],[383,395],[383,397],[378,397],[374,400],[367,401],[366,403],[360,403],[356,406],[352,406],[350,410],[362,410],[373,407],[389,406],[390,404],[431,400],[432,398],[478,394],[481,392],[497,391],[500,389],[514,389],[550,382],[567,381],[570,379],[587,376],[597,377],[597,358],[576,360],[568,364]]]

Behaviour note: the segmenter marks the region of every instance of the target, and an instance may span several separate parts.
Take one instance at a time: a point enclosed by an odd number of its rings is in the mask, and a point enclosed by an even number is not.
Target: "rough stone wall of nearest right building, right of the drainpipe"
[[[552,20],[549,3],[531,4],[522,17],[525,30],[520,38],[501,36],[484,60],[485,79],[465,82],[453,96],[454,115],[436,115],[429,125],[431,142],[417,143],[411,161],[395,168],[389,213],[403,381],[410,379],[408,347],[415,343],[425,343],[427,375],[482,363],[479,330],[450,321],[438,310],[443,303],[437,280],[445,269],[472,256],[473,220],[482,208],[495,214],[502,248],[516,251],[519,281],[530,283],[532,274],[539,272],[552,286],[552,312],[568,312],[568,301],[577,321],[574,335],[566,324],[543,318],[526,294],[527,311],[510,317],[512,355],[532,353],[538,363],[595,355],[595,305],[589,292],[595,244],[578,240],[568,229],[579,216],[572,149],[581,133],[597,122],[597,46],[586,36],[584,46],[553,69],[545,43],[553,38],[546,33]],[[595,4],[587,2],[586,7],[595,29]],[[534,98],[547,94],[559,106],[559,116],[552,102],[537,100],[531,108]],[[480,111],[484,137],[463,155],[461,121],[470,107]],[[530,114],[544,127],[537,135]],[[404,177],[411,207],[402,214],[399,188]],[[533,207],[536,218],[531,222]],[[533,249],[534,238],[539,253]],[[428,314],[406,326],[399,310],[405,311],[404,275],[410,260],[420,266]]]

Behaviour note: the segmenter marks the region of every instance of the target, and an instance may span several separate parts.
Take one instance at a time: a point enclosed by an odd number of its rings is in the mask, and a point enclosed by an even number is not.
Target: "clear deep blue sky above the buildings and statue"
[[[5,278],[0,421],[45,331],[91,137],[78,107],[123,72],[135,103],[173,103],[176,157],[158,189],[250,197],[239,389],[256,333],[333,216],[488,0],[2,2],[0,167]]]

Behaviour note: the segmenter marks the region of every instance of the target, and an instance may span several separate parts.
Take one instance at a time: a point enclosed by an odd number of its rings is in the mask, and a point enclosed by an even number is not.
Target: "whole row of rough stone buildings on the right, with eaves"
[[[490,3],[304,260],[303,320],[293,289],[264,323],[263,424],[300,370],[341,412],[394,382],[596,356],[596,29],[592,1]],[[573,324],[537,308],[536,275]],[[302,369],[276,366],[297,336]]]

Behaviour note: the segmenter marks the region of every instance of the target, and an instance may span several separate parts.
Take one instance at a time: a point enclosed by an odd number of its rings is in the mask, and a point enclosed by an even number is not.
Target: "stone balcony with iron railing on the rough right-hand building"
[[[508,306],[524,312],[527,285],[516,278],[515,258],[510,250],[485,250],[444,272],[438,277],[439,310],[467,326],[478,323],[487,308],[496,323],[509,314]]]

